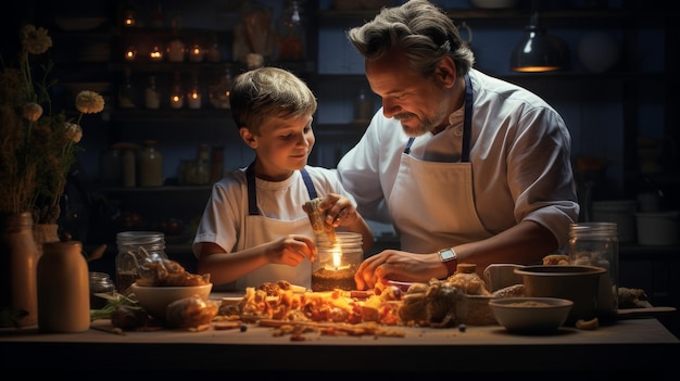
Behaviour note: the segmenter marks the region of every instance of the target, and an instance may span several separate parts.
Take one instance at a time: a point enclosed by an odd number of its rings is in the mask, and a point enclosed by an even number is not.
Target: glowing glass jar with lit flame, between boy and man
[[[317,259],[312,263],[312,291],[356,290],[354,274],[364,259],[363,237],[337,232],[336,242],[316,240]]]

